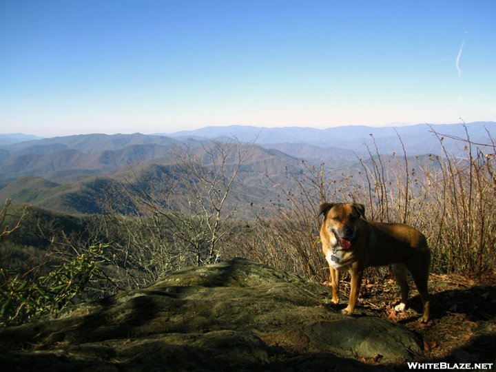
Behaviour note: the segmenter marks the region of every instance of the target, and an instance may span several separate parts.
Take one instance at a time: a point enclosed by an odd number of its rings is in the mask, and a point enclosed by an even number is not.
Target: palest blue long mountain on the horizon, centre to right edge
[[[397,127],[348,125],[324,130],[307,127],[267,128],[231,125],[181,131],[168,134],[168,136],[211,139],[232,138],[234,136],[239,141],[253,142],[266,147],[269,147],[267,145],[280,145],[282,143],[305,143],[326,148],[338,147],[351,153],[366,153],[371,149],[374,154],[375,145],[381,154],[402,152],[404,145],[406,153],[413,156],[440,154],[442,152],[440,140],[432,131],[444,136],[443,144],[448,152],[457,155],[462,154],[465,143],[449,137],[466,138],[466,130],[471,141],[475,143],[490,143],[488,133],[492,138],[496,137],[496,123],[493,121],[467,123],[465,127],[463,124],[417,124]]]

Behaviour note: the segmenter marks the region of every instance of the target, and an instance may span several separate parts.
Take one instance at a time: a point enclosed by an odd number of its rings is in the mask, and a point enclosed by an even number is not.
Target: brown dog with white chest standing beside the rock
[[[427,279],[431,253],[425,236],[408,225],[397,223],[369,223],[365,220],[365,207],[356,203],[324,203],[320,205],[324,221],[320,227],[322,251],[329,262],[332,302],[339,302],[340,271],[351,273],[351,291],[348,307],[343,313],[355,309],[366,267],[392,265],[402,300],[395,311],[406,309],[409,297],[408,272],[424,303],[421,322],[429,317]]]

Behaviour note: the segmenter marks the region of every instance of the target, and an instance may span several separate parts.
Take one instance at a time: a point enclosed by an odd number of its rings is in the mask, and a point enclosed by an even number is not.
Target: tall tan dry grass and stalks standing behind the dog
[[[281,189],[276,214],[258,211],[256,226],[240,249],[245,256],[302,276],[324,280],[327,263],[318,241],[318,207],[322,201],[366,205],[369,220],[406,223],[424,233],[432,251],[431,270],[437,273],[481,275],[496,264],[496,147],[457,138],[465,156],[448,154],[444,136],[441,156],[384,156],[375,146],[361,169],[327,174],[307,166],[293,176],[296,188]],[[401,141],[401,138],[400,138]],[[384,270],[372,270],[376,278]]]

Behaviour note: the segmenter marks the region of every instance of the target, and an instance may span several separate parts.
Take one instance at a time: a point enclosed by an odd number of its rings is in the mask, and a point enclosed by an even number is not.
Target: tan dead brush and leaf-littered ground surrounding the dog
[[[432,251],[431,320],[417,322],[418,296],[406,313],[395,313],[400,292],[387,268],[366,271],[359,306],[417,333],[424,340],[424,361],[496,362],[495,143],[457,138],[466,154],[459,158],[448,154],[442,134],[434,134],[441,156],[384,156],[375,147],[354,174],[327,174],[324,165],[309,165],[295,177],[295,189],[280,190],[287,203],[278,203],[276,216],[258,214],[256,239],[246,254],[325,282],[318,205],[324,200],[364,203],[370,220],[407,223],[426,235]],[[341,300],[344,307],[346,299]]]

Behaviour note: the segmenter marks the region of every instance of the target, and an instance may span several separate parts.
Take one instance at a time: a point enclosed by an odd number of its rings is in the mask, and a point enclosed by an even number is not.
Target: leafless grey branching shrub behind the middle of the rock
[[[143,287],[225,256],[237,212],[228,196],[248,154],[249,147],[236,141],[205,142],[177,147],[167,165],[132,169],[109,193],[109,214],[96,227],[112,240],[107,259],[119,286]],[[112,200],[112,194],[119,198]],[[123,199],[130,200],[124,213],[118,203]]]

